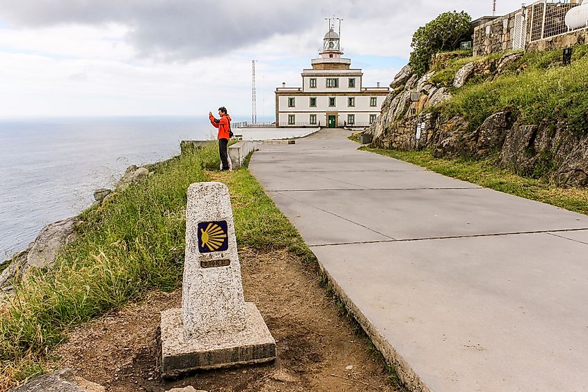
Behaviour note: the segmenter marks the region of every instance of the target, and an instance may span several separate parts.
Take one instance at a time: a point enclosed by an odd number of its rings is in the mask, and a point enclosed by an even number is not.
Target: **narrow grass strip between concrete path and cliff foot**
[[[544,180],[523,178],[510,170],[495,167],[493,158],[444,159],[433,157],[431,150],[399,151],[366,147],[360,149],[410,162],[482,187],[588,215],[588,189],[556,187]]]

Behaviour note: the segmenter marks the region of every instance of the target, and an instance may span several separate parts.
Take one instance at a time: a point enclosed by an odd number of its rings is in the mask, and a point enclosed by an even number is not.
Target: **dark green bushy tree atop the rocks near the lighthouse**
[[[456,11],[443,13],[436,19],[420,26],[413,35],[411,67],[417,75],[429,70],[431,56],[438,52],[458,49],[459,43],[469,40],[472,34],[472,17]]]

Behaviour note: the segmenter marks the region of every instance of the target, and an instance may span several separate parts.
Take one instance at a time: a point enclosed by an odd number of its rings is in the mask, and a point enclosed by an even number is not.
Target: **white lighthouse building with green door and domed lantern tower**
[[[390,88],[363,86],[362,70],[342,57],[340,36],[329,25],[319,57],[302,71],[302,87],[276,88],[278,127],[365,127],[379,115]]]

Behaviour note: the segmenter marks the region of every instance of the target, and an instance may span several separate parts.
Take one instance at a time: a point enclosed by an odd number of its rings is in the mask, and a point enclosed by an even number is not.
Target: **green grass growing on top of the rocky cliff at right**
[[[468,81],[463,88],[450,88],[452,100],[438,111],[443,118],[459,115],[466,118],[473,129],[498,111],[508,110],[521,124],[564,121],[576,134],[588,133],[588,45],[574,47],[569,67],[557,65],[561,52],[527,52],[509,65],[504,74],[492,79],[488,74]],[[445,68],[436,70],[431,81],[438,86],[450,86],[455,73],[470,61],[488,61],[504,53],[479,58],[459,58],[448,61]]]

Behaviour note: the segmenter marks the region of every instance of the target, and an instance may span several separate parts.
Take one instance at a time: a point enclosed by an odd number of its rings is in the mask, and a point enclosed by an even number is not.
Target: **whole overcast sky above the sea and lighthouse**
[[[498,0],[498,15],[520,7]],[[447,10],[475,19],[492,0],[0,0],[0,116],[251,116],[255,59],[257,116],[270,117],[275,88],[301,86],[325,17],[344,19],[345,56],[375,86]]]

